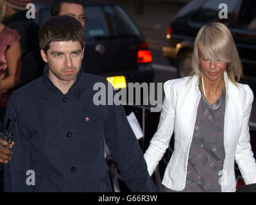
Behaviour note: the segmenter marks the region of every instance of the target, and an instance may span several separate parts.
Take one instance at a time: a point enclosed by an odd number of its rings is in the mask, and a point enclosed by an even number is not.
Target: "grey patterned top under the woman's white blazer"
[[[182,192],[221,192],[219,179],[225,160],[225,94],[210,105],[201,93],[189,151],[187,180]],[[165,192],[173,192],[164,188]]]

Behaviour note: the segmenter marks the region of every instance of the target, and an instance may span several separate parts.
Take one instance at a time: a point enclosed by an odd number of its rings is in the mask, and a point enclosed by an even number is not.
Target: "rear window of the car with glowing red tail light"
[[[140,35],[139,29],[124,10],[116,5],[86,6],[85,37],[112,38]]]

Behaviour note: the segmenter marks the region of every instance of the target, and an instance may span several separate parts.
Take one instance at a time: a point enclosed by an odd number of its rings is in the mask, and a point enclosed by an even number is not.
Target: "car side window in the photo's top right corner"
[[[237,21],[237,28],[256,31],[256,1],[243,1]]]

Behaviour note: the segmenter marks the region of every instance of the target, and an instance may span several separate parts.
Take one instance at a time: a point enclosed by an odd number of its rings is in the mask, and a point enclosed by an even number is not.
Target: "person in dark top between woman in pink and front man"
[[[26,5],[32,0],[5,0],[6,14],[3,24],[16,29],[21,36],[22,58],[38,47],[38,26],[34,19],[27,19]]]

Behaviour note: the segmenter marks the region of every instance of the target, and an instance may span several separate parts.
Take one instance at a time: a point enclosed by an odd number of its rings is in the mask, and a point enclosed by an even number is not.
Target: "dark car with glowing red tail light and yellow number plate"
[[[49,1],[37,1],[35,20],[40,26],[50,17]],[[101,54],[101,75],[115,88],[153,80],[152,56],[145,38],[131,17],[117,3],[85,4],[86,44]]]

